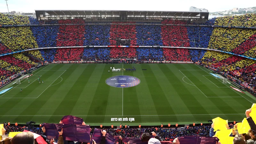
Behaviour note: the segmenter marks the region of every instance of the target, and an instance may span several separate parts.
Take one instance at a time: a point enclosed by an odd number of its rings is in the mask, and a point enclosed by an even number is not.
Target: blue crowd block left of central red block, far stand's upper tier
[[[110,45],[110,25],[85,25],[84,45]]]

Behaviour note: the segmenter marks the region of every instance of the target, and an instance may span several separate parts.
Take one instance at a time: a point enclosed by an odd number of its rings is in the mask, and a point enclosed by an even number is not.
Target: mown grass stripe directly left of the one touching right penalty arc
[[[157,81],[159,84],[161,84],[162,90],[170,103],[170,106],[172,107],[174,113],[176,115],[179,114],[191,114],[188,107],[184,102],[181,100],[179,94],[176,92],[176,89],[173,88],[171,83],[175,83],[175,81],[169,81],[168,80],[168,72],[163,72],[161,68],[159,68],[159,65],[150,65],[151,69],[153,70],[153,73],[155,74]],[[168,68],[166,68],[169,70]]]

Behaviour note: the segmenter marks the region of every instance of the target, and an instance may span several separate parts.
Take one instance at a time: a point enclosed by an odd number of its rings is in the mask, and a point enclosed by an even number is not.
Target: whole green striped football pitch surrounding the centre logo
[[[110,67],[136,71],[112,72]],[[0,120],[58,123],[73,115],[86,124],[108,126],[207,123],[218,116],[242,121],[256,99],[210,72],[194,64],[51,64],[33,71],[30,83],[26,79],[0,89],[13,87],[0,94]],[[135,76],[140,84],[106,84],[107,78],[119,75]]]

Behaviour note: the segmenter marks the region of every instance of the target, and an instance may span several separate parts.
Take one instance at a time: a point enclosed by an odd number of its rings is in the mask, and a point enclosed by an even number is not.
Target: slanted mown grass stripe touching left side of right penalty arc
[[[200,99],[195,97],[194,94],[196,93],[192,94],[187,88],[190,87],[193,89],[194,86],[182,83],[183,75],[181,75],[179,68],[177,68],[176,66],[177,65],[159,65],[159,68],[163,71],[169,82],[172,84],[172,87],[175,88],[176,92],[179,94],[181,100],[188,107],[188,110],[191,114],[209,114],[199,102]],[[197,121],[200,120],[200,116],[194,117]],[[205,117],[211,119],[210,116]]]

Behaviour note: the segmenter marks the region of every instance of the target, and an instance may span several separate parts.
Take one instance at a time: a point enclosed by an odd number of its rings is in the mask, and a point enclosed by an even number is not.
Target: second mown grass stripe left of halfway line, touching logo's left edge
[[[89,108],[88,115],[101,115],[105,116],[106,114],[106,107],[108,103],[108,95],[109,95],[109,86],[105,83],[105,80],[109,77],[108,70],[110,67],[107,65],[102,65],[103,73],[100,76],[100,82],[97,86],[97,90],[94,94],[92,104]],[[96,122],[102,123],[103,117],[86,117],[86,122]]]

